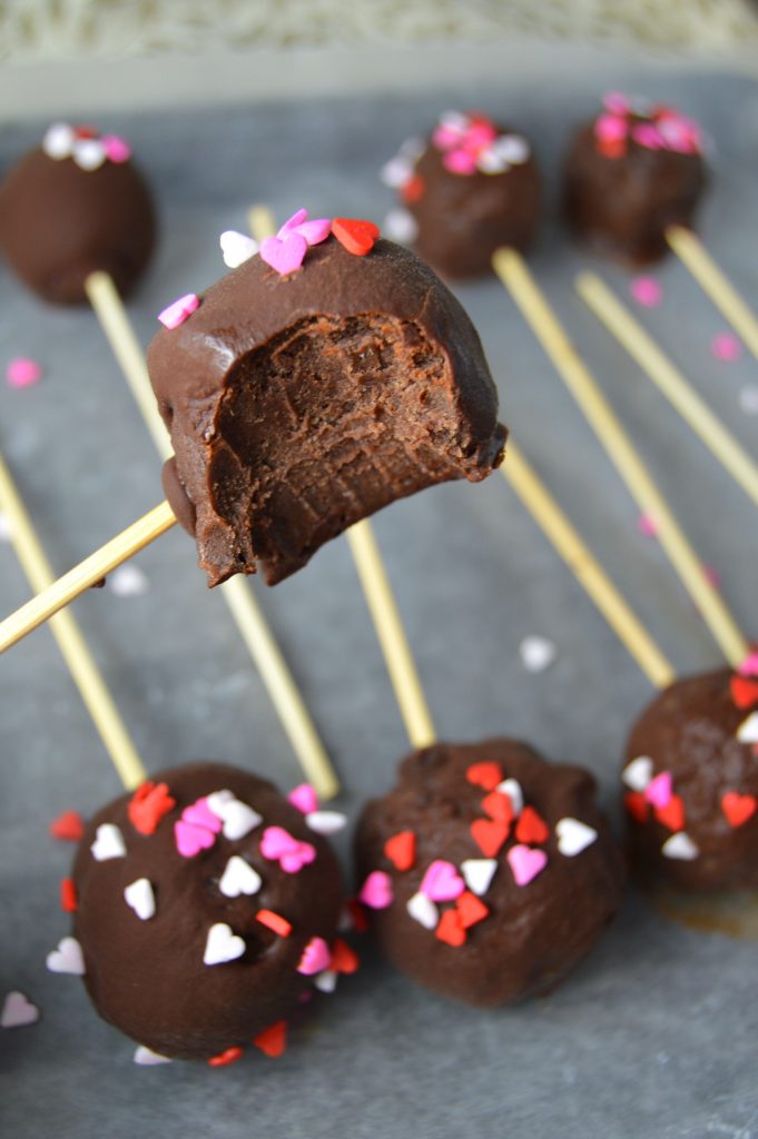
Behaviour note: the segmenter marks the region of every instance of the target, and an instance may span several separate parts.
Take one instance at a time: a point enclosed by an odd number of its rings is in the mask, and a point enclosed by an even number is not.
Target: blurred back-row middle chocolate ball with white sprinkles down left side
[[[523,134],[479,113],[448,112],[424,144],[409,139],[382,171],[402,205],[388,223],[445,277],[490,271],[495,249],[525,249],[540,181]]]

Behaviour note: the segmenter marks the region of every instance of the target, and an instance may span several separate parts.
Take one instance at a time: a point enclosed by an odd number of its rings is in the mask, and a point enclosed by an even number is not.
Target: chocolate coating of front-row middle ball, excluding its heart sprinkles
[[[466,770],[483,761],[495,761],[505,778],[516,779],[525,803],[548,825],[549,837],[539,844],[547,866],[527,885],[515,884],[506,861],[515,845],[512,827],[481,898],[490,913],[467,931],[465,944],[453,947],[414,920],[406,906],[433,860],[460,868],[464,860],[484,858],[470,826],[484,817],[487,792],[466,779]],[[592,845],[573,858],[561,854],[556,844],[555,823],[567,817],[597,831]],[[407,871],[398,870],[384,852],[388,838],[404,830],[416,835],[416,860]],[[386,957],[419,984],[470,1005],[506,1005],[553,989],[590,950],[623,891],[622,859],[595,805],[593,777],[580,768],[546,763],[510,739],[435,744],[408,756],[396,787],[366,806],[356,850],[361,880],[377,869],[392,880],[392,904],[369,911]]]

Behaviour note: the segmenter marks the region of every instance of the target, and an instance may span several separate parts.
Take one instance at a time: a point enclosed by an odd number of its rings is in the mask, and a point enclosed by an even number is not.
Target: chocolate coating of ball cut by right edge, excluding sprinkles
[[[670,772],[674,794],[684,806],[684,833],[698,851],[692,859],[666,857],[663,843],[677,831],[661,822],[651,805],[645,821],[628,810],[630,862],[647,882],[695,891],[758,887],[758,811],[733,826],[723,806],[730,793],[758,797],[755,745],[736,738],[750,708],[735,705],[731,681],[728,669],[678,680],[631,729],[625,768],[649,756],[653,777]]]

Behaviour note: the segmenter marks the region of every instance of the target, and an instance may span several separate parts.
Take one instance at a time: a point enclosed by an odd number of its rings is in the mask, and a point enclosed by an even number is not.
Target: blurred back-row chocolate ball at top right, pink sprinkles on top
[[[706,185],[700,128],[673,107],[612,93],[576,136],[565,218],[577,237],[630,265],[667,252],[666,230],[692,224]]]

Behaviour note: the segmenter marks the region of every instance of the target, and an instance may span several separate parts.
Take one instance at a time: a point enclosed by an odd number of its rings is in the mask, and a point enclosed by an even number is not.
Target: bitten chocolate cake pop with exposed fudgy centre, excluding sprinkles
[[[259,560],[282,581],[394,499],[502,459],[471,321],[390,241],[354,256],[329,237],[290,277],[254,256],[147,362],[176,452],[164,487],[211,585]]]

